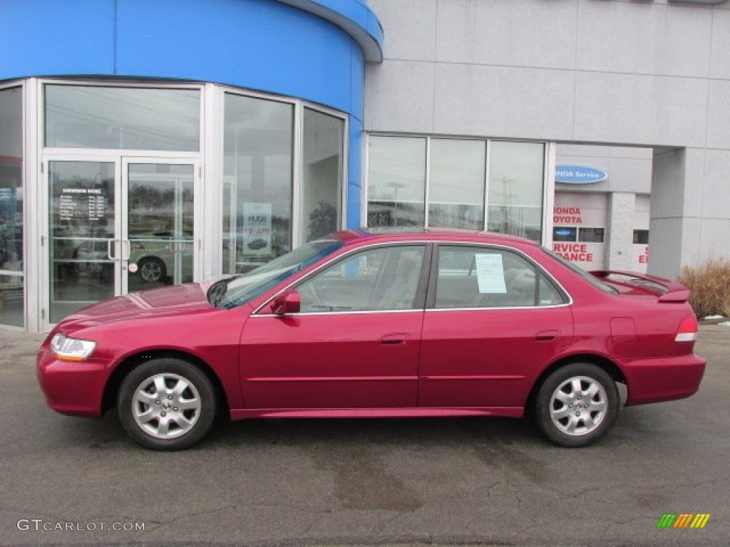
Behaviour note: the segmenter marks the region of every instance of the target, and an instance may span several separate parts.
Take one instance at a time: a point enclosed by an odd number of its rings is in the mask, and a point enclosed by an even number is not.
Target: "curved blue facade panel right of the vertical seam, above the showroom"
[[[119,0],[117,74],[220,82],[358,112],[350,50],[323,19],[271,0]],[[363,65],[360,67],[363,70]]]

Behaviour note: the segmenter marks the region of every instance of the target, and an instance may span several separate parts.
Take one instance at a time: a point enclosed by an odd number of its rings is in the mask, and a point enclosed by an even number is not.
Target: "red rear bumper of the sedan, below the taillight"
[[[694,395],[707,361],[695,354],[624,363],[629,397],[626,406],[659,403]]]

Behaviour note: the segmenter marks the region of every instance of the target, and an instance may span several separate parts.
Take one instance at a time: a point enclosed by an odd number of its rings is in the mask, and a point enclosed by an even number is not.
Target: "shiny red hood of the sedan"
[[[91,304],[66,317],[60,327],[76,330],[112,322],[202,314],[216,311],[208,303],[206,292],[210,283],[189,283],[130,292]]]

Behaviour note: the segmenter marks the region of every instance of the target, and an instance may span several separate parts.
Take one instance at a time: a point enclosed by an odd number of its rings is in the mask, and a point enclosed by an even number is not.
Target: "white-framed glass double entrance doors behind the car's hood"
[[[45,327],[90,303],[196,278],[195,160],[49,159]]]

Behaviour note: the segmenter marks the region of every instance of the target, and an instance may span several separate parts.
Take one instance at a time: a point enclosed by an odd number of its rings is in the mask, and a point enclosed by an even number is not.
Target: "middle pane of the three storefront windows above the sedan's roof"
[[[484,228],[484,141],[431,140],[429,226]]]

